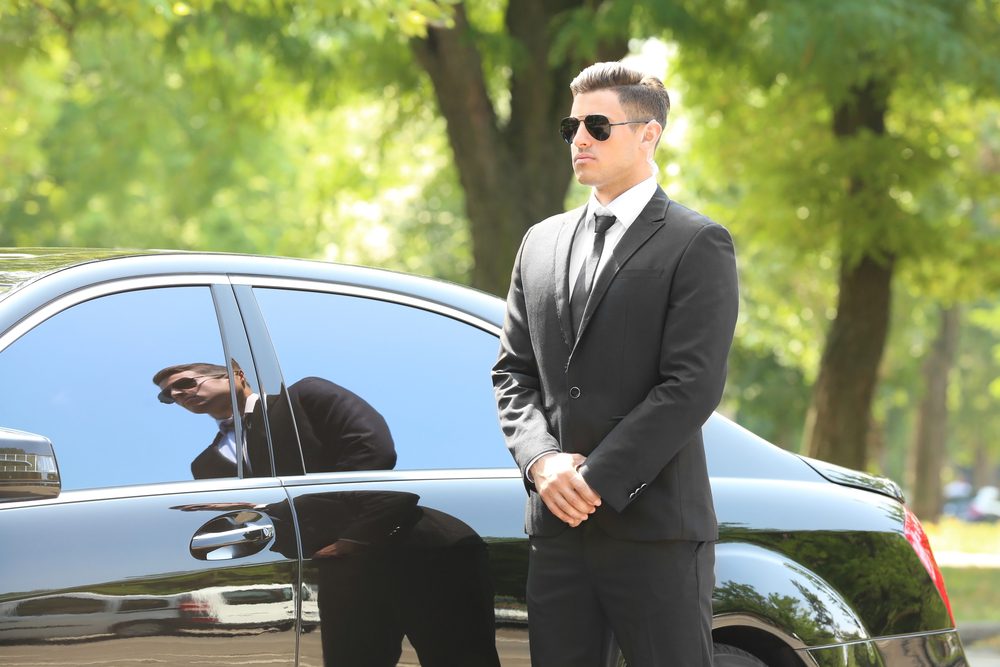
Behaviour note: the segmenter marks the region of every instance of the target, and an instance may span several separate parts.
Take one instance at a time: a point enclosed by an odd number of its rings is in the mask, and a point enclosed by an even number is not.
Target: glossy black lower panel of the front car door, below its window
[[[280,488],[188,482],[137,487],[119,497],[68,492],[58,501],[0,509],[5,536],[0,664],[243,664],[267,655],[294,664],[294,612],[260,603],[231,606],[216,593],[262,585],[294,597],[297,564],[268,547],[265,515],[247,506],[286,502]],[[213,488],[214,487],[214,488]],[[226,488],[231,487],[231,488]],[[230,528],[218,528],[220,519]],[[215,523],[215,527],[210,524]],[[226,534],[228,533],[228,534]],[[200,552],[195,543],[206,545]],[[263,547],[226,557],[210,544]],[[207,560],[218,558],[218,560]],[[144,598],[135,602],[137,593]],[[144,610],[137,607],[145,607]]]

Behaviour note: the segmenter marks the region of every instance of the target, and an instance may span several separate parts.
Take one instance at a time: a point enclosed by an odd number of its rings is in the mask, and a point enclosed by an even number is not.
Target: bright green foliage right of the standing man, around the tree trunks
[[[782,417],[804,417],[790,387],[807,394],[815,378],[835,316],[835,267],[891,256],[900,280],[873,444],[876,467],[903,479],[936,321],[928,313],[995,300],[1000,282],[995,6],[682,1],[637,12],[681,46],[669,87],[680,102],[673,122],[690,130],[673,174],[686,201],[737,242],[743,314],[725,407],[789,446]],[[887,105],[885,131],[836,132],[836,115],[872,82]],[[760,391],[762,377],[785,384]],[[963,397],[973,387],[983,396],[989,382],[956,379]],[[964,462],[974,444],[963,416],[952,419],[951,446]]]

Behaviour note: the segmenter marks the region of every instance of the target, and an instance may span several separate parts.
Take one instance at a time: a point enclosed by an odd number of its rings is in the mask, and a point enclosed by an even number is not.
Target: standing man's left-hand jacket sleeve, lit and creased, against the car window
[[[507,312],[500,335],[500,353],[493,366],[493,389],[497,399],[500,427],[507,449],[521,469],[525,485],[528,466],[539,456],[559,452],[559,443],[549,431],[539,379],[538,362],[531,344],[522,270],[525,247],[531,230],[525,234],[514,260],[514,270],[507,295]]]

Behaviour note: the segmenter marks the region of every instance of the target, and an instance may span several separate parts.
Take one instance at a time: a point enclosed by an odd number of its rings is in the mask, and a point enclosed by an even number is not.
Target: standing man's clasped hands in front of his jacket
[[[586,521],[601,504],[601,497],[577,471],[586,460],[582,454],[546,454],[528,471],[545,505],[572,528]]]

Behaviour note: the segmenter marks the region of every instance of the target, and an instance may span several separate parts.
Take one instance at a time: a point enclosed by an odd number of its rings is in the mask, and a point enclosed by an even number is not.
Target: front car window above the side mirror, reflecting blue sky
[[[208,287],[111,294],[45,320],[0,352],[0,426],[48,437],[64,490],[193,478],[220,432],[209,414],[158,400],[159,370],[223,365]],[[194,382],[205,383],[204,378]],[[225,403],[232,410],[228,378]],[[191,391],[203,394],[211,384]],[[226,475],[215,475],[226,476]]]

